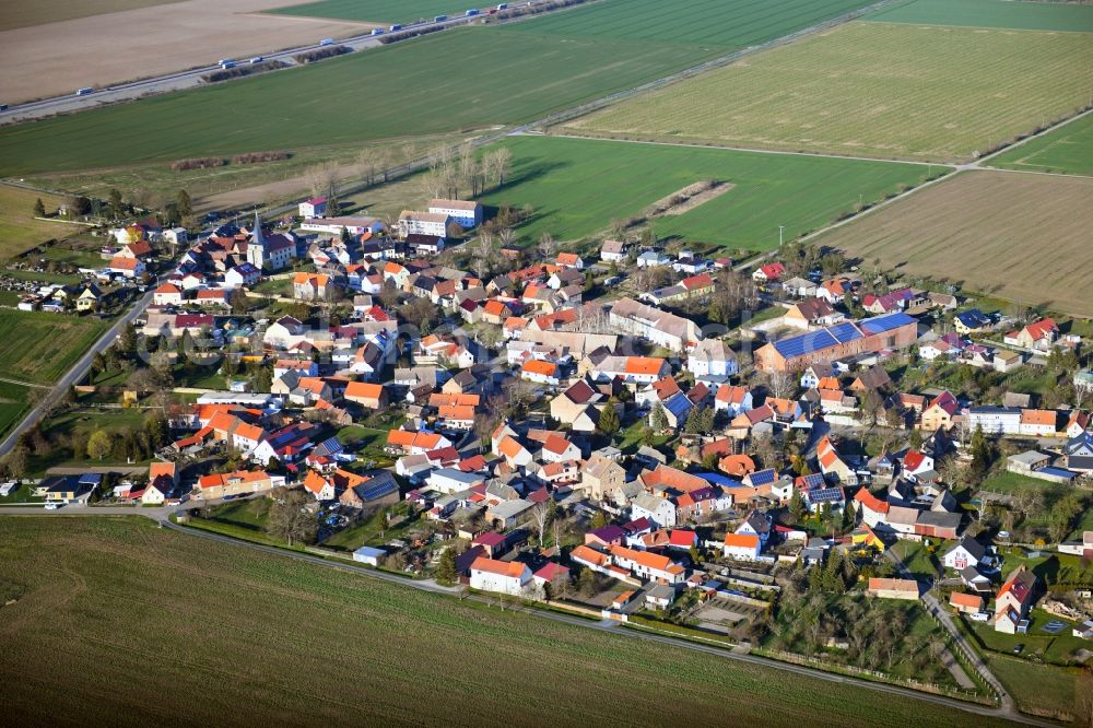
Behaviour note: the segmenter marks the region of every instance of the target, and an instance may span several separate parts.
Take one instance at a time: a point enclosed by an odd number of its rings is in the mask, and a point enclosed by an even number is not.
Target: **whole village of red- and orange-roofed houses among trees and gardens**
[[[150,305],[94,371],[125,371],[126,407],[164,402],[165,422],[146,474],[50,475],[47,507],[200,526],[262,502],[257,532],[287,545],[872,670],[900,653],[855,625],[892,642],[920,599],[971,630],[1049,613],[1093,639],[1089,588],[1035,568],[1093,557],[1093,373],[1067,322],[806,245],[578,254],[512,245],[477,202],[386,224],[327,207],[195,240],[115,232],[106,279],[138,278]],[[179,383],[190,365],[216,374]],[[73,445],[90,465],[96,434]],[[1043,492],[991,490],[1011,475]],[[798,619],[820,591],[850,607]],[[967,659],[952,623],[931,629]],[[903,678],[977,689],[915,653]]]

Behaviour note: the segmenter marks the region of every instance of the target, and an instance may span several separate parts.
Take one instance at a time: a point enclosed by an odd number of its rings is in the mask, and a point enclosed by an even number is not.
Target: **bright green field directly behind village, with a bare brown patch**
[[[531,204],[520,233],[549,231],[573,240],[607,230],[696,181],[717,179],[729,191],[681,215],[657,218],[660,236],[682,236],[725,248],[769,249],[820,227],[854,208],[915,184],[925,166],[816,156],[738,152],[701,146],[643,144],[555,137],[519,137],[513,177],[484,196],[487,204]]]

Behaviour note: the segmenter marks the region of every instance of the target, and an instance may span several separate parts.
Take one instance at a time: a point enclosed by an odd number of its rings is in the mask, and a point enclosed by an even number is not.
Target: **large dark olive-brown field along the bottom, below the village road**
[[[861,727],[1000,725],[213,543],[140,518],[0,519],[0,589],[15,600],[0,607],[0,679],[16,725],[118,715],[230,726],[513,726],[543,715],[555,725],[665,725],[679,706],[663,691],[681,680],[689,716],[707,725],[801,726],[819,714]],[[116,620],[89,618],[127,614],[138,602],[154,619],[119,630]],[[128,686],[103,689],[117,684]],[[422,684],[443,685],[444,700],[423,700]]]

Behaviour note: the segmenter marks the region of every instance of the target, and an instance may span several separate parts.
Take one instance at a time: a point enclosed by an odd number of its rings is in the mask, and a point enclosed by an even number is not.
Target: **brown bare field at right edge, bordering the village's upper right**
[[[916,278],[1093,316],[1093,179],[960,174],[816,240]],[[1050,262],[1045,262],[1045,255]]]

